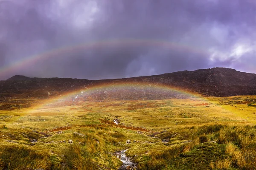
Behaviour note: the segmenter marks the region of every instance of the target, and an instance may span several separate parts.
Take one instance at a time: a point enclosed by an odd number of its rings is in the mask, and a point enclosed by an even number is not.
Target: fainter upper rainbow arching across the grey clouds
[[[113,39],[113,40],[104,40],[104,41],[94,41],[94,42],[86,42],[78,45],[73,46],[64,46],[61,48],[55,48],[51,51],[44,52],[42,54],[37,54],[31,57],[23,58],[15,63],[12,63],[10,65],[6,65],[3,68],[0,68],[0,76],[4,76],[7,73],[10,73],[12,71],[17,71],[20,68],[25,68],[32,63],[36,63],[45,59],[49,59],[52,57],[61,57],[62,54],[68,54],[72,53],[73,51],[79,51],[79,50],[88,50],[92,48],[99,48],[99,47],[114,47],[114,46],[151,46],[151,47],[161,47],[161,48],[167,48],[172,50],[182,49],[183,51],[189,51],[196,54],[207,54],[206,51],[191,47],[188,45],[178,44],[175,42],[169,42],[169,41],[163,41],[163,40],[137,40],[137,39]]]

